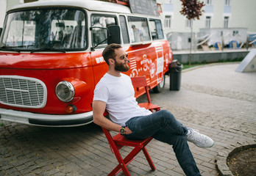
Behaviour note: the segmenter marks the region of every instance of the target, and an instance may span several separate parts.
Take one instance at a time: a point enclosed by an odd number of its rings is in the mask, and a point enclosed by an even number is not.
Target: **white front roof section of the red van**
[[[115,4],[107,1],[97,0],[46,0],[35,1],[31,3],[20,4],[13,7],[14,9],[21,9],[27,7],[82,7],[87,10],[99,11],[99,12],[123,12],[131,13],[129,7]]]

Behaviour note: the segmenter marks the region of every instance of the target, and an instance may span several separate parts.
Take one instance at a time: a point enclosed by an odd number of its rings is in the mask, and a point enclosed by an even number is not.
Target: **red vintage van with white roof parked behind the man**
[[[93,121],[109,43],[129,54],[130,77],[161,92],[172,61],[160,18],[106,1],[37,1],[7,12],[0,38],[0,120],[40,126]],[[136,97],[143,89],[136,90]]]

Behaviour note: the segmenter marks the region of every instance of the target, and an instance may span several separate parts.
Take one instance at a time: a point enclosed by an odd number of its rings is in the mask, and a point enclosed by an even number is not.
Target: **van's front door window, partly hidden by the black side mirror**
[[[107,28],[108,26],[116,25],[115,17],[104,16],[104,15],[92,15],[91,16],[91,26],[92,27],[102,27]],[[107,30],[100,28],[93,28],[93,46],[98,45],[99,43],[107,44]],[[105,41],[104,41],[105,40]],[[104,41],[104,43],[102,43]]]

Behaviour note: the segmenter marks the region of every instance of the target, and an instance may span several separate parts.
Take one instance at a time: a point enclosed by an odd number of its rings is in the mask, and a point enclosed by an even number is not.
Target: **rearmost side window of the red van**
[[[152,35],[153,40],[159,40],[164,38],[162,23],[160,20],[150,19],[149,25],[150,25],[150,33]]]

